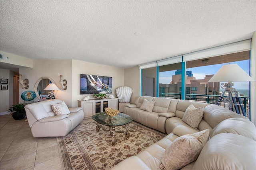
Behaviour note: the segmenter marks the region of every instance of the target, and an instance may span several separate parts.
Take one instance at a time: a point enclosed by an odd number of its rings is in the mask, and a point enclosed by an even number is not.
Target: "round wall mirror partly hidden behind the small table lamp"
[[[34,86],[34,92],[36,93],[36,96],[38,98],[40,94],[49,94],[49,92],[51,92],[51,90],[44,90],[44,88],[46,88],[46,86],[48,86],[50,82],[56,84],[54,80],[50,77],[41,77],[36,81],[36,84]],[[57,92],[58,90],[55,90],[54,95],[56,95]]]

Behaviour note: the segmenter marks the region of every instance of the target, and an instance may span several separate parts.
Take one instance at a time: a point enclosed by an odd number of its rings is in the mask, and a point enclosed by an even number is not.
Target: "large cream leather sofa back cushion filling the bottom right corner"
[[[215,135],[202,149],[193,170],[254,170],[255,146],[256,141],[241,135]]]

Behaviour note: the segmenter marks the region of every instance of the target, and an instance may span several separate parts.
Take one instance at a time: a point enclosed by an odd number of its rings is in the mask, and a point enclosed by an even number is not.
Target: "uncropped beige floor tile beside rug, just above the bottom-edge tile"
[[[35,164],[40,164],[47,160],[51,160],[59,156],[58,146],[53,146],[36,152],[36,162]]]

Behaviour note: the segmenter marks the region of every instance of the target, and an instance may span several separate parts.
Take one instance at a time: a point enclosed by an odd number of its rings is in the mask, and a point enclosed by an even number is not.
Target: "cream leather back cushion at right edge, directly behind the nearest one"
[[[256,127],[249,119],[239,117],[226,119],[214,127],[210,137],[220,133],[234,133],[256,141]]]

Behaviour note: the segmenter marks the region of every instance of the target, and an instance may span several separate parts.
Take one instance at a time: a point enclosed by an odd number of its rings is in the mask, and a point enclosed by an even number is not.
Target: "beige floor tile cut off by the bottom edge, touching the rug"
[[[63,170],[60,156],[36,164],[34,170]]]

